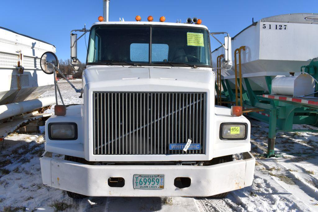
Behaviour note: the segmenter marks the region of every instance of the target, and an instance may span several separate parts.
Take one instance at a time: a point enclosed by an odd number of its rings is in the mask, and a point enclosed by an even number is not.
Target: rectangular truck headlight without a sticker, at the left
[[[48,126],[50,140],[76,140],[77,124],[68,122],[50,123]]]

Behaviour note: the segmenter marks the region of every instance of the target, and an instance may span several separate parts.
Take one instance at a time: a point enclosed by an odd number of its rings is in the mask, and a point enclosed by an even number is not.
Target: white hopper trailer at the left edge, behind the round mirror
[[[54,96],[38,98],[54,85],[52,75],[40,67],[46,51],[55,52],[55,46],[0,27],[1,140],[31,121],[50,116],[43,112],[54,103]]]

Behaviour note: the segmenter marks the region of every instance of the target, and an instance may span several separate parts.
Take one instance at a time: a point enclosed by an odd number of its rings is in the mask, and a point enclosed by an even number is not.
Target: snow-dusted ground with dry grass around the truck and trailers
[[[59,83],[66,104],[81,103],[67,83]],[[75,82],[80,88],[80,82]],[[54,90],[43,96],[54,94]],[[52,109],[51,109],[52,111]],[[252,124],[252,154],[267,148],[268,125]],[[302,125],[296,128],[315,127]],[[39,156],[43,134],[11,134],[0,153],[1,211],[318,211],[318,133],[278,133],[281,158],[256,157],[252,186],[232,191],[225,199],[185,197],[89,197],[72,200],[66,192],[42,184]],[[1,148],[2,142],[0,142]],[[63,157],[63,155],[58,155]],[[239,155],[236,156],[239,158]]]

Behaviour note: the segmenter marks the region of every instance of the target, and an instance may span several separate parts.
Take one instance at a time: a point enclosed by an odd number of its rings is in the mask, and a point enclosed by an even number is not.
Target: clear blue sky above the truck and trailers
[[[56,55],[63,60],[70,58],[70,31],[82,29],[84,24],[90,28],[103,15],[102,0],[0,1],[0,26],[55,45]],[[154,21],[165,16],[166,22],[177,19],[185,22],[188,17],[197,17],[211,32],[226,31],[233,37],[252,24],[252,18],[258,21],[288,13],[317,13],[317,8],[317,0],[110,0],[109,20],[119,21],[124,17],[125,21],[135,21],[136,15],[147,20],[151,15]],[[81,38],[77,46],[78,58],[85,62],[85,39]],[[211,39],[212,50],[218,46]]]

